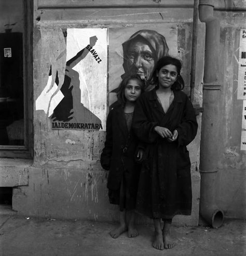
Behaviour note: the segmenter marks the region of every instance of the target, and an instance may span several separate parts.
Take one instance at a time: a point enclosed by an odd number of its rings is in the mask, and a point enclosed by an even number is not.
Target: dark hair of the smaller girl
[[[127,83],[129,82],[129,80],[131,80],[131,79],[138,80],[139,85],[141,86],[141,93],[144,91],[145,83],[144,83],[144,80],[142,80],[140,78],[140,76],[138,76],[138,75],[127,75],[127,76],[125,76],[119,84],[119,87],[118,87],[118,90],[117,90],[117,95],[116,95],[117,99],[118,99],[118,102],[122,106],[125,106],[125,104],[126,104],[125,88],[126,88]]]

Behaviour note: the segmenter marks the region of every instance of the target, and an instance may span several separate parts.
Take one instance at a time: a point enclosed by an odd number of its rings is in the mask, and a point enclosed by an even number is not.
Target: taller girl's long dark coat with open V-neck
[[[174,91],[174,100],[165,113],[156,90],[145,92],[136,103],[132,126],[146,143],[136,209],[150,218],[190,215],[192,186],[186,145],[194,140],[198,127],[192,103],[184,92]],[[177,140],[162,139],[155,126],[171,132],[176,129]]]

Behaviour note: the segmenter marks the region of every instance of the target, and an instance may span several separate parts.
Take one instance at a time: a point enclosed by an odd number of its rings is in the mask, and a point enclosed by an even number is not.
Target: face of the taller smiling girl
[[[162,66],[156,76],[158,77],[159,86],[169,88],[177,79],[177,68],[172,64]]]

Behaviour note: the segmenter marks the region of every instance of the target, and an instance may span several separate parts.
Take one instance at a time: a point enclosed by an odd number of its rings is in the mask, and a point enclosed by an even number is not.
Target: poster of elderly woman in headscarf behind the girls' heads
[[[108,34],[110,104],[116,100],[118,85],[126,75],[139,75],[145,90],[151,90],[156,62],[163,56],[178,56],[177,27],[172,23],[110,28]]]

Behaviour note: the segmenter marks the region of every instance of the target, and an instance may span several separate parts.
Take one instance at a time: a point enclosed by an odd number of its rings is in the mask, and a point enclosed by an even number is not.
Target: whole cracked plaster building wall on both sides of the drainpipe
[[[216,1],[216,6],[229,1]],[[243,7],[245,1],[233,1]],[[241,6],[242,3],[242,6]],[[102,4],[109,9],[101,8]],[[119,6],[121,5],[121,6]],[[132,5],[132,8],[128,8]],[[139,6],[138,6],[139,5]],[[104,6],[104,7],[105,7]],[[175,7],[179,8],[175,8]],[[54,8],[60,7],[60,8]],[[62,8],[61,8],[62,7]],[[67,8],[67,7],[73,7]],[[82,8],[86,7],[86,8]],[[226,6],[234,8],[234,6]],[[63,9],[64,8],[64,9]],[[240,151],[241,107],[237,100],[237,58],[240,26],[245,23],[243,12],[215,11],[221,21],[221,119],[223,140],[220,159],[217,159],[218,205],[225,215],[245,218],[245,153]],[[134,24],[176,23],[179,25],[178,49],[184,61],[185,91],[189,93],[190,62],[192,54],[193,1],[34,1],[34,101],[46,85],[50,56],[57,48],[62,50],[62,28],[128,28]],[[42,31],[43,30],[43,31]],[[41,33],[42,31],[42,33]],[[194,97],[202,105],[202,78],[204,61],[204,24],[198,22],[196,79]],[[41,43],[43,42],[43,43]],[[44,43],[45,42],[45,43]],[[58,56],[57,56],[58,57]],[[57,58],[56,57],[56,58]],[[64,56],[54,70],[64,73]],[[238,122],[240,120],[240,122]],[[199,216],[199,131],[189,145],[192,161],[193,215],[177,216],[177,223],[197,225]],[[1,186],[12,186],[13,209],[20,214],[42,217],[92,220],[118,219],[116,207],[107,199],[107,172],[102,170],[99,157],[105,132],[52,130],[50,120],[43,112],[34,110],[34,161],[11,159],[0,165]],[[139,218],[140,222],[147,222]]]

